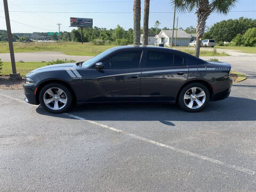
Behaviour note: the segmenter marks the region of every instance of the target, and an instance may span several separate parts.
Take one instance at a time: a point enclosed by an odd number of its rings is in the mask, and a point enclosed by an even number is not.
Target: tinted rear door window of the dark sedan
[[[146,67],[170,67],[173,65],[173,54],[148,51]]]

